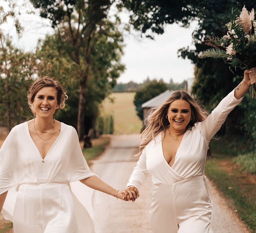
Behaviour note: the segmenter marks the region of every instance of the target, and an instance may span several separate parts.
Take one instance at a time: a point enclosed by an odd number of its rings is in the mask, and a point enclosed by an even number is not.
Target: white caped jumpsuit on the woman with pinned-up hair
[[[0,149],[0,194],[11,189],[2,213],[15,233],[94,233],[90,215],[70,188],[71,181],[93,175],[72,126],[61,123],[42,159],[28,123],[16,125]]]

